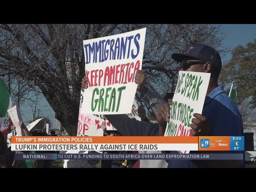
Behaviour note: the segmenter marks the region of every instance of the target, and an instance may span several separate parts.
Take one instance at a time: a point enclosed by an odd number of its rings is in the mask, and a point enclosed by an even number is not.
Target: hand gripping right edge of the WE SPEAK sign
[[[194,113],[193,116],[195,118],[192,119],[192,124],[190,127],[192,128],[190,132],[193,136],[207,136],[210,132],[211,124],[202,114]]]

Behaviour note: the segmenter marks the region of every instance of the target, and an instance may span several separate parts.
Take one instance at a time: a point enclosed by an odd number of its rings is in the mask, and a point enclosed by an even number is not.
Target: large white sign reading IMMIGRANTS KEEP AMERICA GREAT
[[[135,74],[142,69],[146,28],[84,40],[88,88],[82,114],[127,114],[136,93]]]

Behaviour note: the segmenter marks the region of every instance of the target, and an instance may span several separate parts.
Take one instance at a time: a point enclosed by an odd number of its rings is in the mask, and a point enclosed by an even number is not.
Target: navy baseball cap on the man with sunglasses
[[[204,44],[194,44],[186,54],[174,53],[172,58],[178,62],[184,60],[201,60],[211,62],[212,66],[221,71],[222,63],[220,54],[214,48]]]

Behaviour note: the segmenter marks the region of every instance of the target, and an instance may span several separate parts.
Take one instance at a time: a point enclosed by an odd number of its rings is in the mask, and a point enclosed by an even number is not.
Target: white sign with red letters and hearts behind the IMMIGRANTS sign
[[[83,101],[84,92],[81,90],[77,136],[103,136],[101,124],[104,120],[95,115],[83,114],[81,112],[81,106]]]

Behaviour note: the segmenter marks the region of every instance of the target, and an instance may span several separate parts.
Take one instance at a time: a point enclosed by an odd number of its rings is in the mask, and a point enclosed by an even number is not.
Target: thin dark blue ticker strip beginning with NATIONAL
[[[14,154],[15,160],[243,160],[236,154]]]

